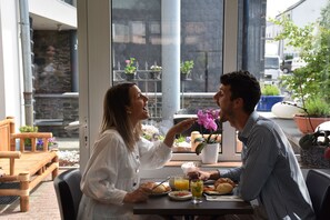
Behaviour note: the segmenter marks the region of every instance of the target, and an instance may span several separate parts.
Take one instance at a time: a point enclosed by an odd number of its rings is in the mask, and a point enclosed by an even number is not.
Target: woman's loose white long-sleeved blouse
[[[132,206],[123,204],[127,192],[140,184],[140,169],[161,168],[171,158],[164,143],[143,138],[131,152],[117,130],[100,134],[82,174],[83,192],[78,219],[137,219]]]

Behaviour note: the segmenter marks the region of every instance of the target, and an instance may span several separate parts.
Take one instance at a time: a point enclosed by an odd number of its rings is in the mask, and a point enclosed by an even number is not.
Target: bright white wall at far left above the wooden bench
[[[0,120],[13,116],[16,123],[21,124],[24,118],[17,4],[18,1],[0,0]]]

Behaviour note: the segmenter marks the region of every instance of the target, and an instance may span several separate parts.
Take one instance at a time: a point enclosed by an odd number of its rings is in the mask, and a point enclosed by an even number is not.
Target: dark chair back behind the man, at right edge
[[[309,170],[306,183],[317,219],[330,219],[330,176],[319,170]]]

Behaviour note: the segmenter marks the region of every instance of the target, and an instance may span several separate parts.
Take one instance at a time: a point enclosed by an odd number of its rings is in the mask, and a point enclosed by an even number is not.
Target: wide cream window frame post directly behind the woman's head
[[[80,169],[100,130],[103,97],[112,81],[111,0],[80,0],[78,10]]]

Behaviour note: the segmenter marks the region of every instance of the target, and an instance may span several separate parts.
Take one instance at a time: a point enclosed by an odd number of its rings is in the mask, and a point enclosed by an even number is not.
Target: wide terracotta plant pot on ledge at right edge
[[[306,116],[298,116],[293,117],[293,120],[302,133],[312,133],[314,129],[326,121],[330,121],[330,118],[313,118],[313,117],[306,117]]]

